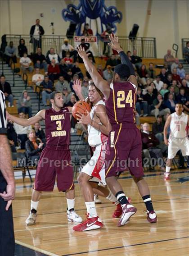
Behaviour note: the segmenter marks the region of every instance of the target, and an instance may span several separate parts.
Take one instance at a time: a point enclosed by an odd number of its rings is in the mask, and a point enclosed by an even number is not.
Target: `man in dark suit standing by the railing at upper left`
[[[36,52],[36,48],[41,48],[41,36],[45,34],[45,31],[42,26],[40,26],[40,19],[36,19],[36,24],[31,26],[30,29],[30,43],[33,44],[33,53]]]

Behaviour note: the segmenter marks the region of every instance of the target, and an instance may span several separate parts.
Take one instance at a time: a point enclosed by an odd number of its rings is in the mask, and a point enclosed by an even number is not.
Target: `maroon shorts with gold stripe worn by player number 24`
[[[142,167],[142,141],[135,124],[112,126],[108,137],[105,158],[106,178],[116,176],[119,171],[130,170],[135,177],[144,175]]]

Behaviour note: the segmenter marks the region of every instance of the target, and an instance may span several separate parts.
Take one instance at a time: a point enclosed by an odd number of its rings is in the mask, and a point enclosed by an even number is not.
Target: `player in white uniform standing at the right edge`
[[[168,156],[166,161],[166,173],[164,179],[170,179],[170,169],[172,159],[176,153],[181,150],[182,155],[189,155],[189,115],[184,114],[182,104],[175,105],[175,111],[168,116],[164,126],[164,142],[168,146]],[[170,136],[167,139],[167,129],[170,126]]]

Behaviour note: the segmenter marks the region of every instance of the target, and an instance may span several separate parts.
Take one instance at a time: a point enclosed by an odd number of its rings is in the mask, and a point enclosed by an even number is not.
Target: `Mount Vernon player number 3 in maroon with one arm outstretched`
[[[69,150],[71,129],[71,107],[63,108],[63,96],[60,92],[50,94],[52,107],[40,110],[36,116],[20,119],[8,114],[8,119],[23,126],[29,126],[40,120],[45,120],[46,146],[43,149],[36,169],[36,178],[31,197],[31,211],[26,219],[27,225],[36,223],[37,206],[41,191],[53,191],[55,178],[59,191],[66,193],[67,219],[76,223],[82,222],[74,210],[75,191],[71,152]]]

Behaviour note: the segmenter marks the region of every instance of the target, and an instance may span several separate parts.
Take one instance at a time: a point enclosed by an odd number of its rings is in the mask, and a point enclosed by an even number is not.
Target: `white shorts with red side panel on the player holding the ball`
[[[91,176],[90,181],[99,182],[101,181],[106,185],[105,181],[105,155],[107,141],[99,144],[95,147],[94,155],[91,157],[89,162],[83,167],[81,172]]]

